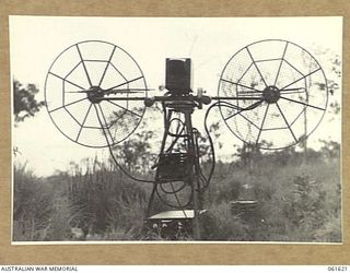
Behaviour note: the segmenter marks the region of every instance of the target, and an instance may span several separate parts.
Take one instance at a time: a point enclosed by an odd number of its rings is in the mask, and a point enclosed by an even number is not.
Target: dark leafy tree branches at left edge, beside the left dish
[[[35,84],[27,84],[24,87],[18,80],[13,81],[13,115],[15,122],[34,117],[40,107],[45,105],[44,102],[35,99],[35,95],[38,92]]]

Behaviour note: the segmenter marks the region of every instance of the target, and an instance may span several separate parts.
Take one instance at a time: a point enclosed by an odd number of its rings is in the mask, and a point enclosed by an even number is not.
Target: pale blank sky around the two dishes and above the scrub
[[[208,95],[215,95],[228,60],[246,45],[271,38],[293,41],[312,54],[320,47],[341,56],[342,19],[10,16],[11,75],[24,84],[36,84],[37,99],[42,100],[47,72],[61,51],[79,41],[104,40],[136,59],[148,86],[155,88],[151,96],[161,94],[158,87],[164,84],[165,58],[191,58],[195,90],[202,87]],[[329,69],[326,59],[317,60],[325,71]],[[331,99],[340,102],[340,94]],[[340,142],[341,120],[330,122],[327,115],[310,136],[311,146],[317,146],[318,139]],[[202,129],[202,114],[194,116],[194,123]],[[152,127],[160,130],[162,120]],[[232,145],[242,142],[224,124],[221,129],[226,147],[219,156],[229,158],[234,153]],[[85,157],[108,157],[107,150],[89,149],[68,140],[52,124],[46,109],[13,128],[12,141],[20,151],[14,161],[27,162],[37,176],[65,171],[70,162],[79,163]]]

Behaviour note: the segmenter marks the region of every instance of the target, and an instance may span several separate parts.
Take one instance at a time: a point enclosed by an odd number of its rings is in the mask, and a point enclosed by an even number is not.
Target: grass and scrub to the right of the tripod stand
[[[340,241],[339,156],[323,151],[308,151],[308,156],[305,164],[302,153],[289,150],[260,154],[253,170],[241,159],[221,168],[226,175],[214,178],[206,199],[208,238]],[[258,206],[230,214],[235,200],[256,200]]]

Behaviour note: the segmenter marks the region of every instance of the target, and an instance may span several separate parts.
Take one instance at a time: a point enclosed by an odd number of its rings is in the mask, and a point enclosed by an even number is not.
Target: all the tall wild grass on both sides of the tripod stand
[[[202,239],[341,241],[339,159],[315,156],[301,162],[295,156],[288,162],[262,156],[253,168],[219,163],[205,195]],[[84,164],[46,179],[25,166],[14,167],[13,240],[163,239],[141,233],[151,186],[128,179],[108,164]],[[236,214],[231,209],[235,200],[257,200],[258,206]]]

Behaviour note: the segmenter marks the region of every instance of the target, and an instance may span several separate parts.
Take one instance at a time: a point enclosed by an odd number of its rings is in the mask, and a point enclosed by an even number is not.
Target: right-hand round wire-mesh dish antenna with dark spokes
[[[218,95],[238,98],[222,99],[220,106],[233,134],[266,150],[304,141],[323,119],[328,100],[325,73],[316,59],[277,39],[237,51],[222,71]]]

